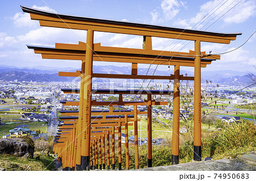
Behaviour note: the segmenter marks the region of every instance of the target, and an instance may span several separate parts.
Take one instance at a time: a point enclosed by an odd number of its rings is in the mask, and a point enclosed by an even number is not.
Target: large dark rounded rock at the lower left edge
[[[33,157],[34,148],[22,138],[0,138],[0,154],[11,154],[18,157]]]

